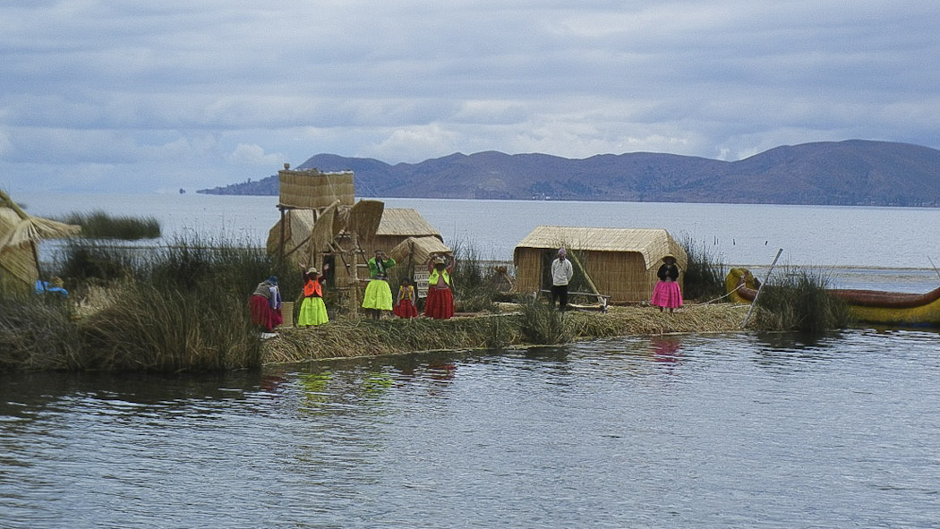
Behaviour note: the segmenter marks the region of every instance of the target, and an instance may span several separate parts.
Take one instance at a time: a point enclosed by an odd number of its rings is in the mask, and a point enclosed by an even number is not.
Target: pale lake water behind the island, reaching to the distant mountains
[[[207,194],[21,194],[40,216],[104,210],[152,216],[164,238],[198,233],[263,244],[279,220],[276,196]],[[480,257],[512,259],[515,244],[535,226],[661,227],[729,265],[763,272],[780,264],[823,267],[839,288],[926,291],[940,282],[940,209],[558,202],[524,200],[385,199],[414,208],[449,243],[464,242]]]

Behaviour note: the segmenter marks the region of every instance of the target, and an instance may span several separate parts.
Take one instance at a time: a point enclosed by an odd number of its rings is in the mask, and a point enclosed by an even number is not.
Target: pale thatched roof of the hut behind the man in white
[[[676,257],[684,269],[688,257],[682,245],[661,228],[536,226],[516,248],[557,249],[589,252],[636,252],[643,256],[647,270],[666,256]]]

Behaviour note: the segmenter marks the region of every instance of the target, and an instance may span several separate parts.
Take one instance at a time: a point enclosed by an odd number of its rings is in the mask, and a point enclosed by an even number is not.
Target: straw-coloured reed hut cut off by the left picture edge
[[[0,191],[0,289],[24,292],[33,288],[41,275],[39,241],[71,237],[80,231],[79,226],[30,215]]]

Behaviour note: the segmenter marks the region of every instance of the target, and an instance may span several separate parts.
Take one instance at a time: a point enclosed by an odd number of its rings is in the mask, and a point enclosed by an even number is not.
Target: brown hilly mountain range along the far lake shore
[[[738,162],[635,152],[583,160],[478,152],[390,165],[318,154],[298,169],[352,170],[356,196],[940,207],[940,150],[848,140]],[[277,176],[199,190],[278,194]]]

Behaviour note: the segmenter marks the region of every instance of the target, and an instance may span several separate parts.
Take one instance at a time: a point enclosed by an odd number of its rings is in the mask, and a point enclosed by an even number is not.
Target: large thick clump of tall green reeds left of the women
[[[0,349],[0,367],[164,372],[258,367],[261,349],[248,298],[269,275],[282,274],[286,289],[300,288],[301,281],[300,272],[286,270],[261,248],[198,238],[144,251],[72,241],[61,260],[58,274],[72,292],[67,306],[82,298],[98,306],[84,306],[90,315],[81,319],[36,299],[5,309],[0,343],[10,347]],[[105,299],[88,302],[92,289],[104,292]],[[46,345],[28,345],[34,342]]]

